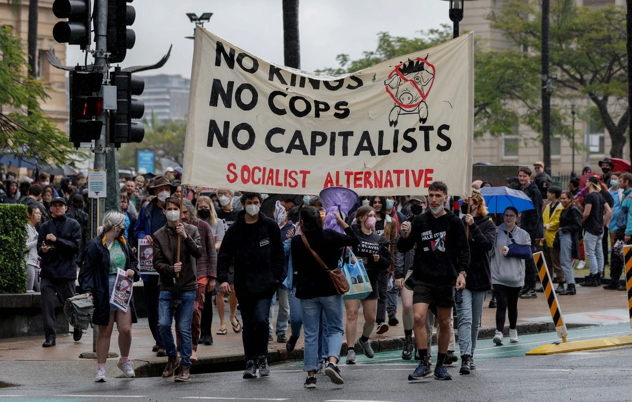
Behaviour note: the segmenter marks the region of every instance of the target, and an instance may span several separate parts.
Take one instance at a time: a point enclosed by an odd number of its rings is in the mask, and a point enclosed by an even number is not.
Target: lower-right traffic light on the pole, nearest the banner
[[[109,142],[116,147],[121,143],[141,142],[145,137],[145,127],[132,119],[143,117],[145,104],[133,95],[143,93],[145,80],[117,67],[110,75],[110,85],[116,86],[116,114],[110,119]]]

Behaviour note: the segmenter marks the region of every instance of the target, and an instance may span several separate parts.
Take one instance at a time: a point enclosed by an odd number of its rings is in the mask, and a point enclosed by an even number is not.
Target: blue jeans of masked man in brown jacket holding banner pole
[[[191,319],[193,318],[193,303],[195,303],[196,293],[197,290],[189,290],[180,293],[179,299],[182,300],[182,304],[178,308],[178,311],[171,310],[169,307],[169,304],[171,304],[171,291],[161,290],[158,300],[158,329],[162,341],[164,341],[167,356],[178,356],[176,343],[173,340],[173,332],[171,332],[173,314],[175,313],[181,339],[180,353],[182,356],[180,364],[185,366],[191,365],[191,350],[193,348],[193,344],[191,343]]]

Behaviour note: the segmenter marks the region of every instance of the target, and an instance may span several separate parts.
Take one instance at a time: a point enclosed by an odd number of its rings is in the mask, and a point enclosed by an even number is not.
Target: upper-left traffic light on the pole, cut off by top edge
[[[90,0],[55,0],[52,13],[57,18],[68,18],[52,28],[57,42],[81,45],[84,50],[90,45]]]

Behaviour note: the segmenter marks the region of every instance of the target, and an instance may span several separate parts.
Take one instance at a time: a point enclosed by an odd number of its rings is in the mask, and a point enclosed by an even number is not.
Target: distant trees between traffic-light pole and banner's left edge
[[[136,166],[137,150],[153,150],[155,159],[169,159],[182,166],[185,159],[186,121],[158,121],[155,114],[144,121],[145,138],[142,143],[125,143],[118,152],[118,163],[121,167]]]

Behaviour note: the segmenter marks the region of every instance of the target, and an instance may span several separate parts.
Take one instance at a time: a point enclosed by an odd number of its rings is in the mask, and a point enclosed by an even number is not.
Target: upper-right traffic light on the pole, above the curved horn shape
[[[136,10],[128,5],[133,0],[107,0],[107,51],[110,63],[125,60],[127,49],[134,47],[136,34],[128,28],[136,20]]]

